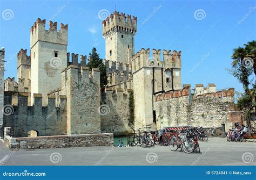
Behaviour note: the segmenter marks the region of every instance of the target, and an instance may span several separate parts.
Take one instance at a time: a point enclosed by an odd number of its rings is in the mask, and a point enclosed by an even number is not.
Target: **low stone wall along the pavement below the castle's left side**
[[[38,136],[36,138],[4,137],[4,143],[9,148],[39,149],[88,146],[113,146],[113,133]]]

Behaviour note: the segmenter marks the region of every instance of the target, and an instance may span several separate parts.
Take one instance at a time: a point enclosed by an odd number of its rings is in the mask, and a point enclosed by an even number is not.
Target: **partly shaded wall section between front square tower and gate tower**
[[[106,88],[102,93],[102,104],[106,113],[100,116],[102,133],[112,132],[114,135],[125,135],[132,132],[130,118],[130,96],[132,89]]]

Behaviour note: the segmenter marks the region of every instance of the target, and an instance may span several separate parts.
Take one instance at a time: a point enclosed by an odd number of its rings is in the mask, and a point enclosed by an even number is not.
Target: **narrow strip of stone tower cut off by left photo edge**
[[[0,128],[4,122],[4,48],[0,50]]]

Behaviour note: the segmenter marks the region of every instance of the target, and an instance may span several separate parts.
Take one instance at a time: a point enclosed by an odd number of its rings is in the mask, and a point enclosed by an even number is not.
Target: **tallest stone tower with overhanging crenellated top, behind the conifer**
[[[105,59],[131,64],[134,54],[134,35],[137,33],[137,17],[114,11],[102,22],[105,39]]]

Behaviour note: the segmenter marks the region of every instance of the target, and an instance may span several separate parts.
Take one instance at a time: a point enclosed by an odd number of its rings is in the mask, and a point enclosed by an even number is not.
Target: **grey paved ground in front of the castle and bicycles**
[[[256,143],[209,138],[201,154],[169,147],[80,147],[10,151],[0,141],[2,165],[256,165]],[[255,158],[254,158],[255,157]],[[2,159],[2,160],[1,160]],[[55,162],[55,163],[54,163]],[[245,163],[248,162],[248,163]]]

